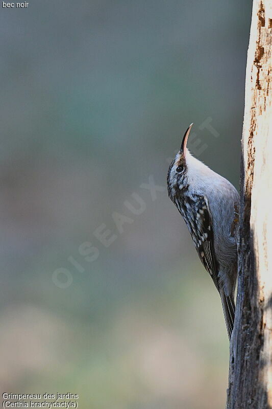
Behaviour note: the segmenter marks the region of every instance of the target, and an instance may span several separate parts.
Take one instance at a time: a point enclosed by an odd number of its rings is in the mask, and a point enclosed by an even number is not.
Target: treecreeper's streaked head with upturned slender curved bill
[[[173,200],[175,197],[182,194],[184,189],[188,188],[189,184],[189,164],[188,160],[190,152],[187,149],[187,140],[191,130],[191,124],[186,132],[184,133],[184,137],[182,139],[181,148],[177,155],[175,156],[174,160],[171,162],[168,174],[167,174],[167,188],[168,188],[168,195]]]

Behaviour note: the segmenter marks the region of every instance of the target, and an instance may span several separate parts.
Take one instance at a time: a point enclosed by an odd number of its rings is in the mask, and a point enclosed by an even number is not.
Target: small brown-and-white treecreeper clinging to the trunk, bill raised
[[[229,180],[189,152],[187,140],[192,125],[169,166],[168,196],[183,216],[196,252],[219,292],[230,340],[237,278],[237,245],[232,226],[239,195]]]

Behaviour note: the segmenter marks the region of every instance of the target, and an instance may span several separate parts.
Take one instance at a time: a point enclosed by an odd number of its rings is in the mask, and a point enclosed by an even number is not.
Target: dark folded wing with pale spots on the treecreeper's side
[[[213,244],[212,216],[208,200],[205,196],[194,195],[193,205],[186,202],[186,200],[184,204],[187,209],[190,209],[187,212],[189,216],[184,219],[191,233],[196,251],[219,291],[218,268]]]

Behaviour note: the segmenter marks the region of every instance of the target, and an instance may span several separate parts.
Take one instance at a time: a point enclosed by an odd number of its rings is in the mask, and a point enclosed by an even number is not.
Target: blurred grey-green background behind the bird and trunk
[[[192,153],[239,186],[250,2],[29,0],[0,17],[1,392],[225,407],[220,299],[166,173],[194,122]]]

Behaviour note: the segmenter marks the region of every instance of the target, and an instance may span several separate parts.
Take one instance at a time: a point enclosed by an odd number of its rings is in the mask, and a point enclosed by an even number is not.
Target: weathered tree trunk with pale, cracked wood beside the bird
[[[254,0],[245,80],[228,409],[272,408],[272,0]]]

